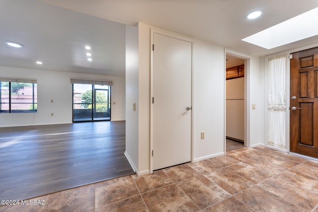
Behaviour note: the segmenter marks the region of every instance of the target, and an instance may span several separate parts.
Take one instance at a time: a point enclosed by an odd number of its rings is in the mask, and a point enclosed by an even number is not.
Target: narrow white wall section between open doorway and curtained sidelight
[[[264,62],[260,57],[251,57],[249,60],[249,147],[264,145],[265,121],[265,81]],[[251,105],[255,104],[255,110]]]

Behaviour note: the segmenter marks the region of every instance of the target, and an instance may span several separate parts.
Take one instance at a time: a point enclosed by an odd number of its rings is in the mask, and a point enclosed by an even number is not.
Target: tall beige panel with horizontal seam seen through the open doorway
[[[226,80],[226,136],[244,141],[244,77]]]

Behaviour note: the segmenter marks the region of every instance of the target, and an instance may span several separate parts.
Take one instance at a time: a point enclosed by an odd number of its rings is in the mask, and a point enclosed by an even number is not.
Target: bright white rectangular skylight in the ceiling
[[[318,35],[317,26],[318,7],[243,38],[242,41],[272,49]]]

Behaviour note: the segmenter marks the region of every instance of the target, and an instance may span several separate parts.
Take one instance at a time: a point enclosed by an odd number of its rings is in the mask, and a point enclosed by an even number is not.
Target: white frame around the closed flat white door
[[[153,149],[154,149],[154,105],[152,104],[152,97],[154,96],[154,34],[161,34],[171,38],[187,41],[191,43],[191,105],[193,106],[193,39],[179,35],[170,31],[165,31],[157,28],[150,29],[150,173],[154,172],[153,169]],[[193,162],[193,111],[191,112],[191,162]]]

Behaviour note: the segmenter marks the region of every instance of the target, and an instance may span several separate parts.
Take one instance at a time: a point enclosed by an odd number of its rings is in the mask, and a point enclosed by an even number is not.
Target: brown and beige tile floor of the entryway
[[[38,198],[1,212],[318,212],[318,161],[240,148],[203,161]]]

